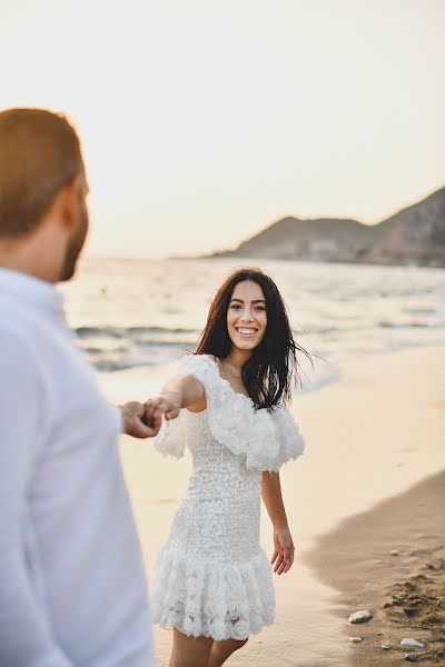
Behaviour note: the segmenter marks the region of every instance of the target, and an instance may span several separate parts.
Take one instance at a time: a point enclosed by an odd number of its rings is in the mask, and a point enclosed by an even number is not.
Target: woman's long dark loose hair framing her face
[[[244,268],[234,271],[218,289],[198,342],[196,355],[228,357],[233,342],[227,330],[227,311],[238,282],[251,280],[259,285],[266,299],[267,327],[261,342],[243,366],[243,382],[257,409],[273,410],[288,402],[299,380],[297,352],[312,357],[295,342],[281,299],[275,282],[260,269]]]

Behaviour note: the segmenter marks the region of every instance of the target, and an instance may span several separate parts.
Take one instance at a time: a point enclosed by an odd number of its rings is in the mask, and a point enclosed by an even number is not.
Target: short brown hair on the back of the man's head
[[[0,237],[32,232],[83,169],[79,138],[60,113],[0,111]]]

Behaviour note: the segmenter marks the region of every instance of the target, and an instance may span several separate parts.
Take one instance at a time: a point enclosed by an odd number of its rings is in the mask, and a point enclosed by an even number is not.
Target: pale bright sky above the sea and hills
[[[444,33],[444,0],[0,0],[0,108],[78,129],[87,253],[206,253],[443,187]]]

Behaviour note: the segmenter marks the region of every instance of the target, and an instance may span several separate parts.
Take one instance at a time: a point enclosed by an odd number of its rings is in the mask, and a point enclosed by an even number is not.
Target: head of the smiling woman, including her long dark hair
[[[271,409],[291,398],[297,351],[309,357],[294,340],[275,282],[259,269],[231,273],[214,299],[197,354],[220,359],[222,372],[246,388],[257,408]]]

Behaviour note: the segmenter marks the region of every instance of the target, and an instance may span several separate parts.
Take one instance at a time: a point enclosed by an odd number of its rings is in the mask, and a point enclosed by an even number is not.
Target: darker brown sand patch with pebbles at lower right
[[[398,665],[408,653],[423,665],[444,664],[444,509],[445,469],[348,517],[306,555],[317,578],[338,590],[333,613],[344,619],[345,640],[362,639],[350,646],[352,667]],[[348,624],[359,609],[373,618]],[[403,647],[404,638],[425,646]]]

